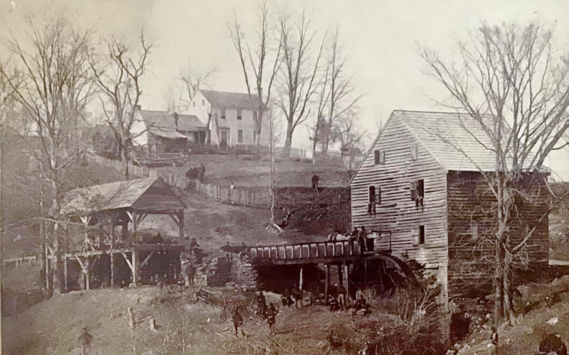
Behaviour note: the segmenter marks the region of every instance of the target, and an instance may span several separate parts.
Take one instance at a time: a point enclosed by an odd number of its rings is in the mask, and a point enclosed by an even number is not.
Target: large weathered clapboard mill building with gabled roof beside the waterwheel
[[[457,113],[393,111],[351,178],[352,226],[375,231],[376,250],[415,260],[438,274],[445,299],[491,285],[496,201],[484,180],[494,153],[479,125]],[[467,126],[468,125],[468,126]],[[466,129],[465,127],[468,127]],[[522,204],[511,226],[524,246],[526,271],[546,266],[546,175],[528,173]],[[488,238],[487,238],[488,237]]]

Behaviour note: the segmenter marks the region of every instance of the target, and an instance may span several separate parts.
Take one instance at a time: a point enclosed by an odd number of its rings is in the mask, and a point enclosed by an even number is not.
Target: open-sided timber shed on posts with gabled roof
[[[72,222],[68,239],[79,242],[61,256],[65,290],[179,278],[185,207],[159,177],[68,192],[62,213]],[[149,214],[171,217],[179,236],[141,234],[137,228]],[[53,263],[55,256],[50,259]]]

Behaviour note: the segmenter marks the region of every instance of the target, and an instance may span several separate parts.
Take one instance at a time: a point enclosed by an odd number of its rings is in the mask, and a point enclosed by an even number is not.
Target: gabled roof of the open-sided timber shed
[[[161,211],[186,207],[174,191],[157,176],[71,190],[63,201],[61,213],[65,215],[122,208]]]

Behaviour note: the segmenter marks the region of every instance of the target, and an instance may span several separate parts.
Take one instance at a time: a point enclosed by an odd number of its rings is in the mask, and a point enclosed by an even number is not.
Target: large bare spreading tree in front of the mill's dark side
[[[481,173],[496,201],[492,239],[496,328],[504,316],[510,321],[514,317],[514,261],[523,258],[528,240],[551,210],[526,220],[528,231],[514,236],[511,227],[518,222],[522,205],[546,203],[531,197],[523,184],[531,176],[547,184],[544,175],[532,173],[543,169],[551,151],[568,145],[563,134],[569,128],[569,63],[565,57],[555,57],[552,36],[538,23],[483,24],[467,43],[459,43],[456,65],[431,50],[422,51],[427,74],[450,94],[445,106],[466,112],[461,120],[464,129],[482,129],[485,138],[479,143],[495,155],[494,171],[481,169]]]

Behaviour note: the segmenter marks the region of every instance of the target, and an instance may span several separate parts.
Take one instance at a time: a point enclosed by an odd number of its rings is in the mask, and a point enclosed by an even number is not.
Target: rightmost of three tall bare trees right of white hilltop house
[[[355,94],[352,76],[346,73],[346,58],[339,43],[339,29],[336,28],[329,44],[329,54],[326,60],[326,75],[321,90],[326,94],[326,130],[322,132],[322,153],[327,153],[330,143],[334,141],[336,124],[347,112],[355,109],[362,94]],[[351,115],[351,121],[354,116]]]

